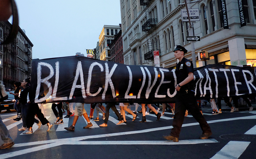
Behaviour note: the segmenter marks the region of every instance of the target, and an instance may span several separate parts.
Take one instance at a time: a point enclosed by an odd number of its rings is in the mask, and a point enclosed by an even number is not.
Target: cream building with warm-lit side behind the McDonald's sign
[[[99,35],[99,60],[110,61],[109,44],[114,39],[114,35],[118,34],[121,26],[104,25]]]

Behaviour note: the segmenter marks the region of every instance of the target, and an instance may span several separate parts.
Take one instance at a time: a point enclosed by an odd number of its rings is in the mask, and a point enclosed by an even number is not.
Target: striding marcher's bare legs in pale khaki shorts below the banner
[[[87,126],[83,127],[83,129],[92,127],[92,124],[88,118],[88,114],[86,113],[86,111],[84,109],[84,103],[75,103],[75,114],[74,114],[73,123],[70,127],[64,128],[64,129],[68,130],[68,131],[75,131],[75,124],[76,124],[79,116],[83,116],[88,123]]]

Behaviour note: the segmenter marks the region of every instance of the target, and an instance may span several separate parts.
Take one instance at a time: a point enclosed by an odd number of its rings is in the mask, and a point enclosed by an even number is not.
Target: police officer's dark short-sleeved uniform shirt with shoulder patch
[[[177,64],[175,72],[177,76],[177,84],[179,84],[189,76],[190,72],[194,73],[192,62],[186,59],[185,57],[183,57],[183,59]],[[192,90],[193,84],[194,84],[194,80],[183,85],[180,89],[180,92],[185,92],[185,90]]]

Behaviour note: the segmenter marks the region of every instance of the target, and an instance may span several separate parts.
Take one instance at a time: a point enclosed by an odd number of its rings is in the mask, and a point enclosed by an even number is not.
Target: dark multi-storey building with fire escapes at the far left
[[[10,33],[11,24],[0,22],[0,41],[2,42]],[[25,30],[19,28],[17,38],[7,45],[0,45],[0,81],[6,89],[13,89],[15,81],[31,75],[33,44],[25,34]]]

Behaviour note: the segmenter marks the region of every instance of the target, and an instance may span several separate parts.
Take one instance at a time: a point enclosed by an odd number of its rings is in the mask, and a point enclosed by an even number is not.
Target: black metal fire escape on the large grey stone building
[[[159,50],[160,55],[160,49],[155,49],[154,44],[152,43],[153,39],[156,37],[156,25],[158,23],[157,18],[151,18],[149,13],[149,6],[152,4],[154,0],[140,0],[140,5],[144,6],[144,11],[146,14],[147,21],[142,25],[142,31],[146,32],[147,36],[147,42],[148,42],[148,48],[149,52],[144,54],[145,60],[154,60],[154,54],[153,51]]]

